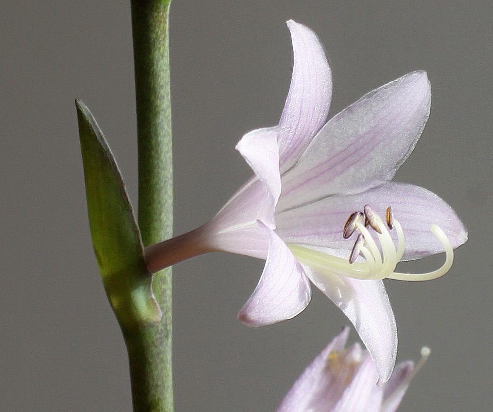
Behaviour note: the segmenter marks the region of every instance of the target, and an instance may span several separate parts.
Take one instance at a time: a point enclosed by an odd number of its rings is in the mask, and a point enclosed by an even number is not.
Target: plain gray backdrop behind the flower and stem
[[[399,359],[432,348],[401,412],[491,410],[492,15],[490,1],[460,0],[172,5],[177,234],[207,221],[249,176],[234,150],[243,133],[277,124],[292,65],[285,20],[313,28],[325,45],[332,114],[400,75],[428,71],[431,117],[396,180],[446,199],[470,241],[442,279],[387,281]],[[126,352],[90,244],[73,106],[78,97],[95,113],[135,201],[129,1],[9,2],[0,45],[0,409],[130,411]],[[292,321],[243,326],[236,313],[262,264],[214,254],[176,266],[178,412],[274,412],[348,324],[315,291]]]

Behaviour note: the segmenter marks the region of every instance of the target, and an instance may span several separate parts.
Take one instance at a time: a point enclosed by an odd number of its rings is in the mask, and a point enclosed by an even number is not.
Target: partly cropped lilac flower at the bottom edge
[[[335,337],[298,377],[277,412],[394,412],[429,355],[398,365],[383,386],[371,357],[359,344],[345,349],[349,329]]]

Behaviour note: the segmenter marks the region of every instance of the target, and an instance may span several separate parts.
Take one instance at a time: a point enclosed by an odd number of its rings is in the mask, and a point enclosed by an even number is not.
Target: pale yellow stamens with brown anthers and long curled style
[[[390,230],[395,230],[397,244],[394,243]],[[363,211],[356,211],[349,216],[342,235],[345,239],[354,235],[355,242],[347,260],[304,246],[288,246],[300,263],[321,271],[354,279],[423,281],[443,276],[450,270],[454,261],[454,250],[447,235],[438,225],[431,225],[430,231],[445,249],[445,262],[438,269],[425,273],[395,271],[397,263],[404,255],[405,237],[402,226],[393,216],[390,207],[386,211],[385,223],[369,205],[365,205]]]

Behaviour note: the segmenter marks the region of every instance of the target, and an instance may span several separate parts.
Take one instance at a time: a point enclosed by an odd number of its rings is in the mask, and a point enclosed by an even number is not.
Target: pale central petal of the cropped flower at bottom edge
[[[376,385],[377,370],[365,353],[351,383],[331,412],[381,412],[383,389]]]

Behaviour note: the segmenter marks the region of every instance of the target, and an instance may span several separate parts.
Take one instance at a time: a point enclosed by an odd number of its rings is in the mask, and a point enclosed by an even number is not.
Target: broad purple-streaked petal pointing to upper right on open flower
[[[336,114],[282,176],[278,211],[390,181],[421,136],[430,103],[426,73],[413,72]]]

